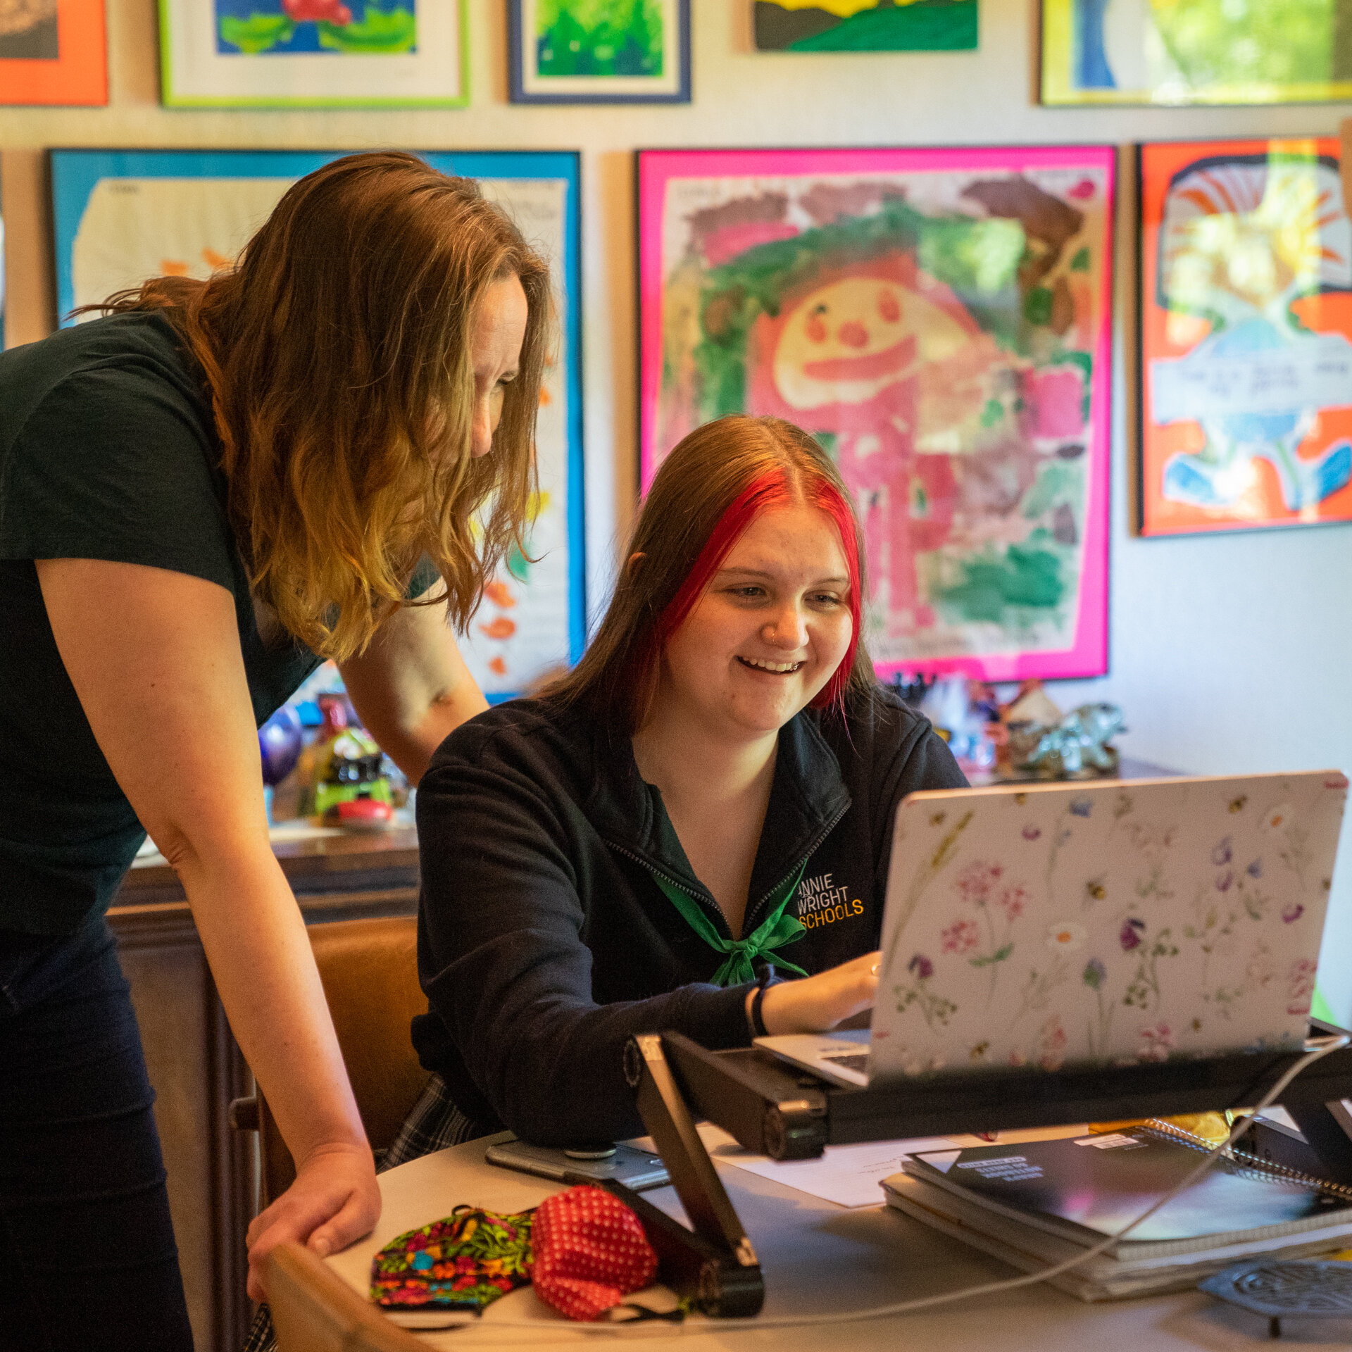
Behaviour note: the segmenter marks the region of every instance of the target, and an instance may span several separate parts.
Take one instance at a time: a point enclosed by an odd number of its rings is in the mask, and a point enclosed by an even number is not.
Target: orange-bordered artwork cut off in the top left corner
[[[0,104],[107,101],[103,0],[0,3]]]

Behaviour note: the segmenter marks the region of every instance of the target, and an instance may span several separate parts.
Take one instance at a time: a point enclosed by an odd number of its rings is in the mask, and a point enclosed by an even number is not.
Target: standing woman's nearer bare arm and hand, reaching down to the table
[[[51,631],[119,786],[183,882],[231,1030],[296,1160],[249,1229],[268,1251],[329,1253],[380,1215],[362,1130],[306,926],[268,842],[234,599],[141,564],[37,562]]]

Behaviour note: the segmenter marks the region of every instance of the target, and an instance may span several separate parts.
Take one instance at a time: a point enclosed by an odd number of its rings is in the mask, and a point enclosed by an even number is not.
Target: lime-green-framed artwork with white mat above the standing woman
[[[160,0],[173,108],[458,108],[468,0]]]

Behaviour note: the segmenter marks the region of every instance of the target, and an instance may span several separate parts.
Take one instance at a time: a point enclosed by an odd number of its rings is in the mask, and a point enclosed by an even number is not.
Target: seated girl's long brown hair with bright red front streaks
[[[648,718],[661,652],[754,516],[783,502],[822,508],[850,572],[850,649],[814,704],[840,706],[873,684],[860,623],[864,564],[849,492],[825,450],[779,418],[734,414],[704,423],[662,461],[634,523],[606,618],[581,661],[546,694],[587,704],[627,734]]]

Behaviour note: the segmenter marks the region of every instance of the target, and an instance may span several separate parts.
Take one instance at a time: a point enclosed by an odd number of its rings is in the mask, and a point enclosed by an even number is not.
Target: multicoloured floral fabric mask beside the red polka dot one
[[[377,1305],[479,1310],[530,1282],[530,1211],[496,1215],[457,1206],[443,1221],[408,1230],[370,1265]]]

